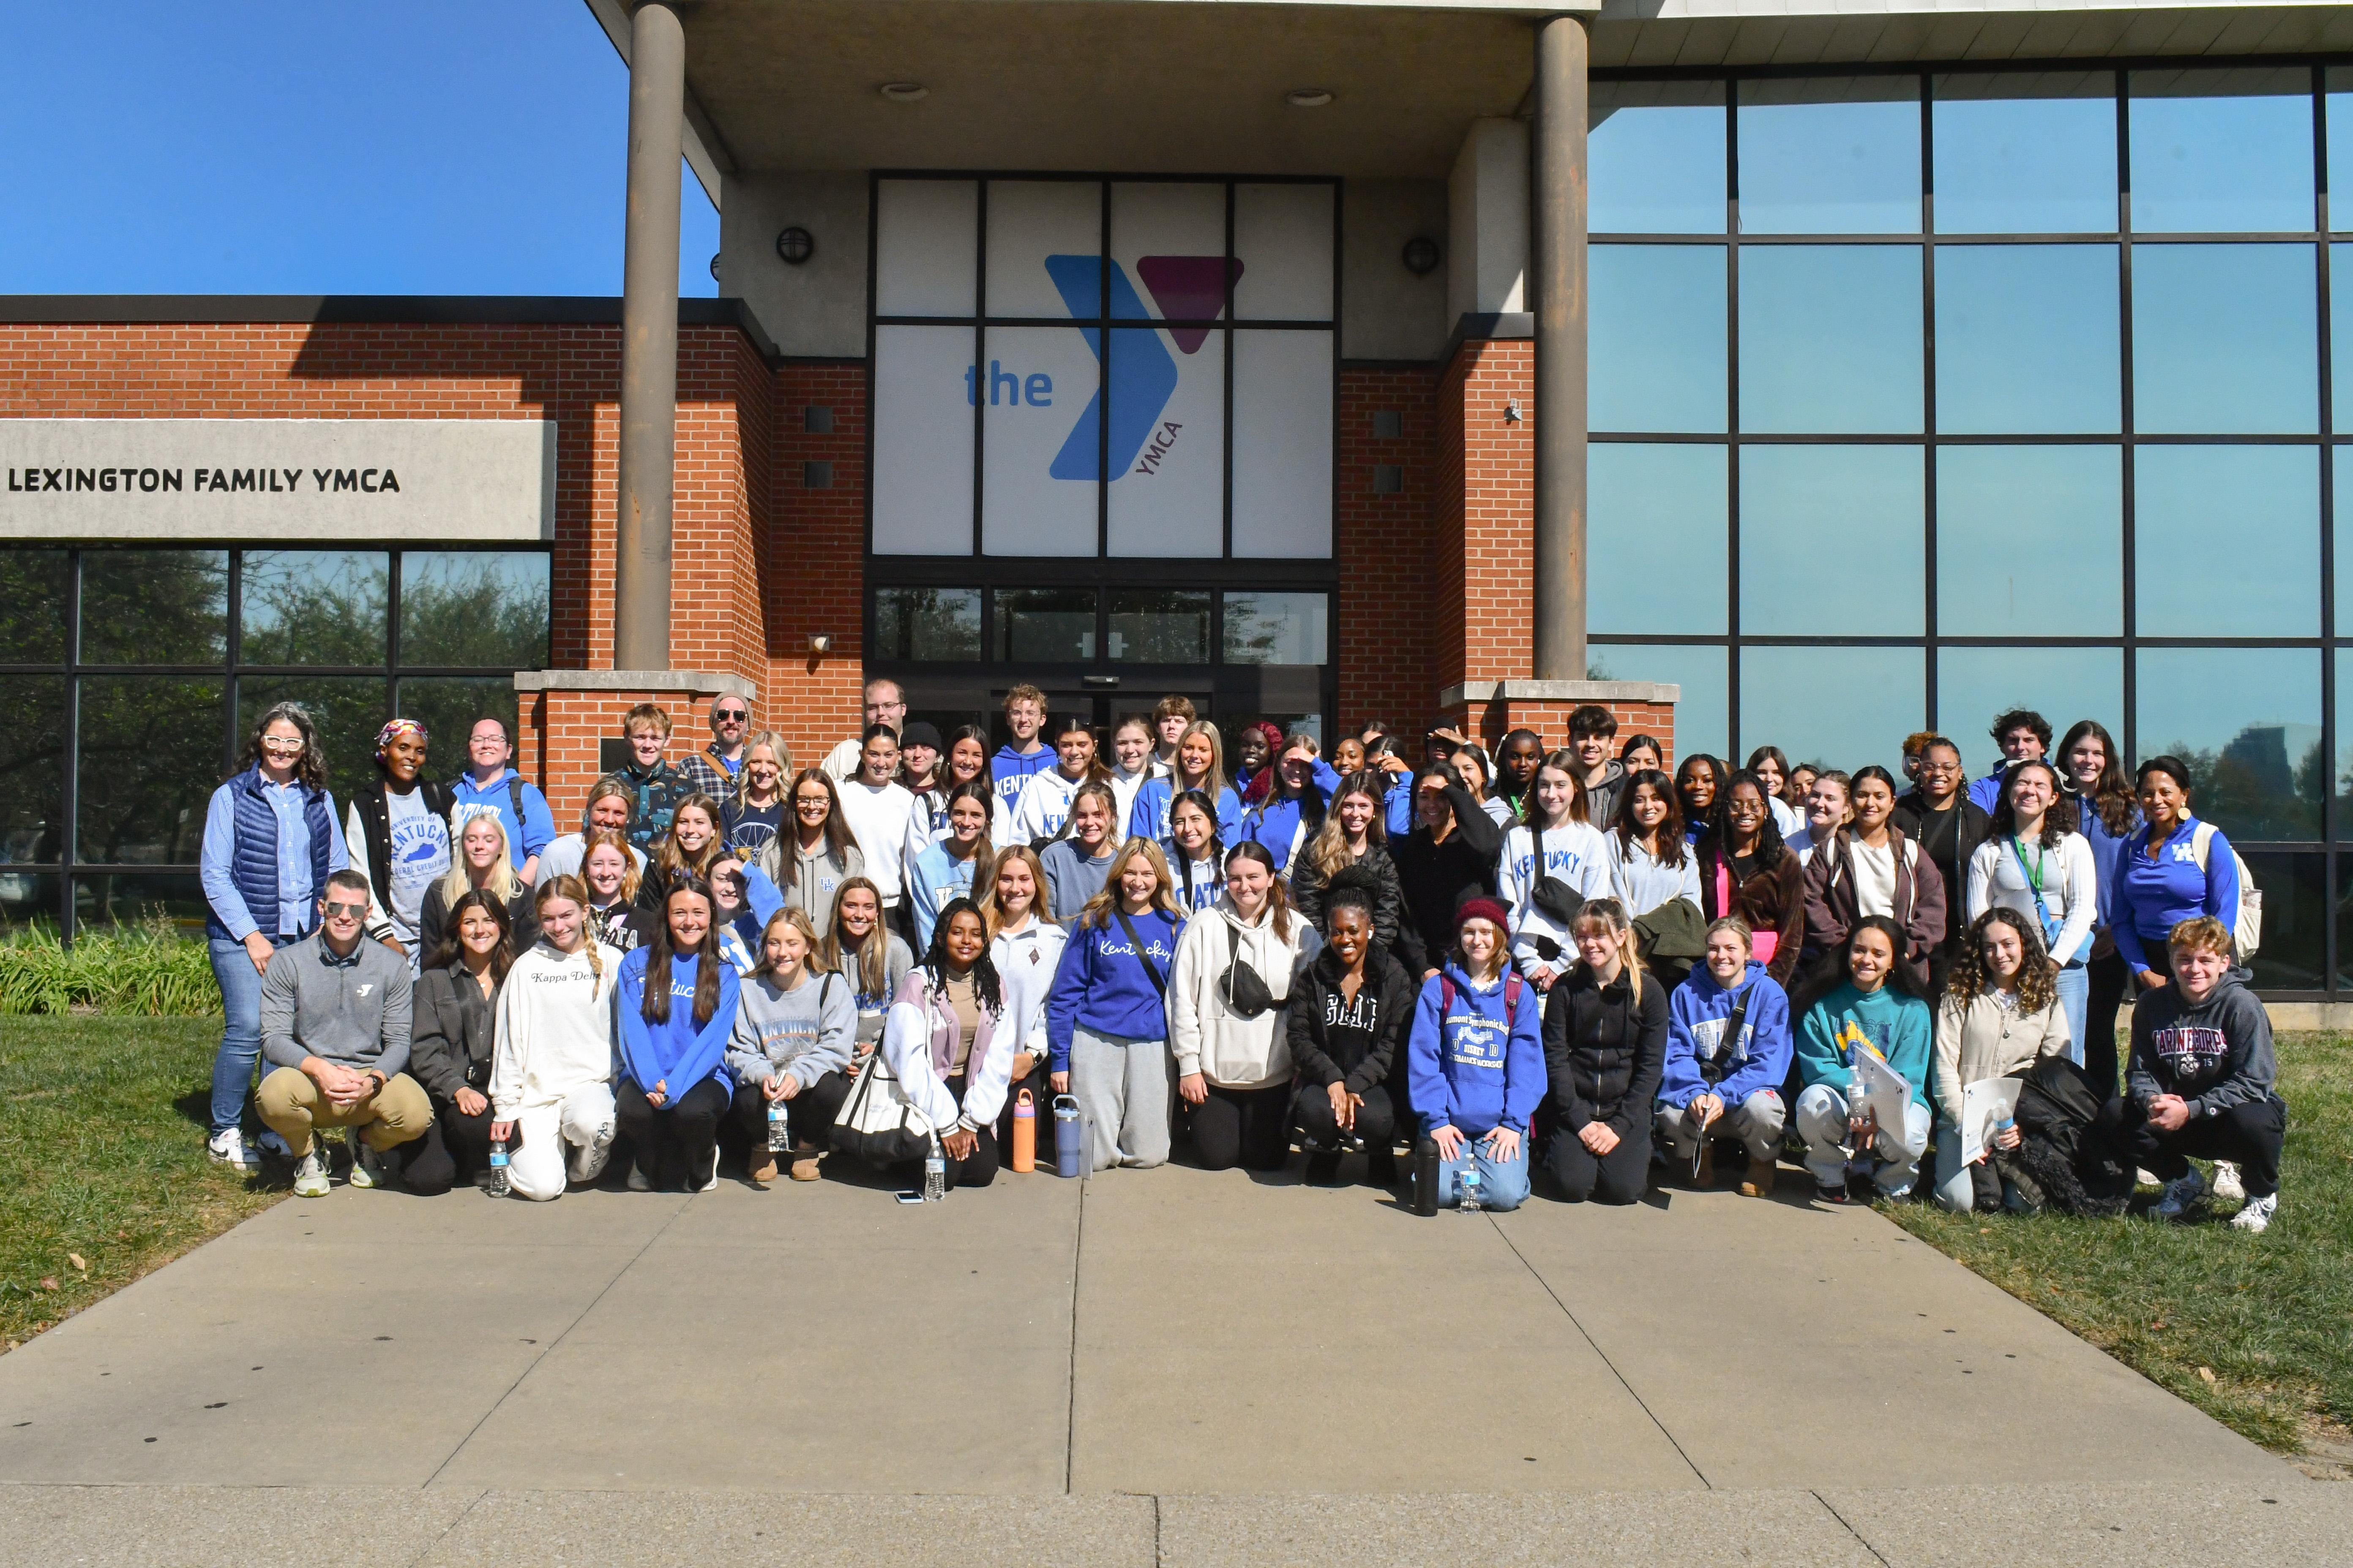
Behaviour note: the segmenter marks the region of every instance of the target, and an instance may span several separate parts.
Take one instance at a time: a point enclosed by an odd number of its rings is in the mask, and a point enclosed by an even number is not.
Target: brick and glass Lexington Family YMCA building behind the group
[[[506,715],[560,816],[635,701],[814,759],[875,675],[1972,773],[2028,705],[2193,757],[2259,985],[2353,990],[2353,5],[579,26],[621,299],[0,299],[0,917],[195,907],[287,696],[329,778]]]

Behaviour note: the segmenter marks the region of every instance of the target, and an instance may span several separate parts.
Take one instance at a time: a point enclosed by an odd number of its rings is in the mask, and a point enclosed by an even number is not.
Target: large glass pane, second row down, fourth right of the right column
[[[2167,435],[2320,428],[2308,244],[2132,247],[2132,423]]]

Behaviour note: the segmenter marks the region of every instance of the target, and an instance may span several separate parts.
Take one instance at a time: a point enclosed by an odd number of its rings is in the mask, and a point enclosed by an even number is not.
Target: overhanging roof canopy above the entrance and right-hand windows
[[[591,0],[607,24],[624,0]],[[1527,108],[1534,24],[1577,5],[678,0],[687,118],[725,174],[1106,169],[1442,179]],[[609,16],[607,16],[609,12]],[[2353,52],[2353,5],[1609,0],[1593,66]],[[892,103],[885,82],[927,96]],[[1322,87],[1332,103],[1282,94]],[[689,153],[692,155],[692,153]],[[696,160],[701,172],[701,160]]]

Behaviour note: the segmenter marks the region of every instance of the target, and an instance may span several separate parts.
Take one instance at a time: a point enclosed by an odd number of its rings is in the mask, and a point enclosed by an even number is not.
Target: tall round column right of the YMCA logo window
[[[1581,16],[1537,28],[1537,679],[1586,677],[1586,61]]]

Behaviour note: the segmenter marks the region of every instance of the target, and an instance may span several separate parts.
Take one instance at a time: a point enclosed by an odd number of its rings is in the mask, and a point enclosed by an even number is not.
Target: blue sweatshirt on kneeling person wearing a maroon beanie
[[[1452,1006],[1445,1006],[1445,980],[1454,983]],[[1513,990],[1520,1006],[1506,1016],[1504,999]],[[1497,1126],[1525,1133],[1546,1084],[1544,992],[1511,978],[1478,990],[1459,964],[1447,964],[1445,976],[1421,983],[1407,1051],[1424,1133],[1449,1121],[1464,1138],[1485,1138]]]

